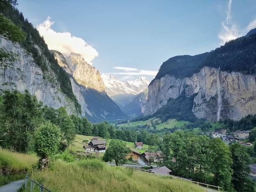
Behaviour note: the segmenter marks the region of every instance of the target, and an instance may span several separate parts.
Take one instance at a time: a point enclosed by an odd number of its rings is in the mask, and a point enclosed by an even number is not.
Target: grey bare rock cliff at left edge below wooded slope
[[[19,44],[13,44],[9,40],[1,39],[0,47],[18,54],[19,60],[7,69],[0,69],[0,89],[17,89],[24,92],[29,90],[35,94],[38,100],[50,107],[58,108],[66,106],[69,114],[75,114],[74,103],[60,92],[60,84],[51,69],[43,73],[41,68],[36,65],[31,54],[28,54]],[[40,49],[36,47],[39,51]],[[47,63],[47,60],[44,59]]]

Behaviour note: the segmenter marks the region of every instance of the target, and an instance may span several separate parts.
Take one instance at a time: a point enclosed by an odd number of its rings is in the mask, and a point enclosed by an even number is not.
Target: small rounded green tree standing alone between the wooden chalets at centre
[[[130,149],[126,147],[126,144],[119,139],[112,139],[106,149],[106,153],[103,155],[103,161],[111,162],[115,161],[116,165],[122,165],[126,162],[126,156],[130,152]]]

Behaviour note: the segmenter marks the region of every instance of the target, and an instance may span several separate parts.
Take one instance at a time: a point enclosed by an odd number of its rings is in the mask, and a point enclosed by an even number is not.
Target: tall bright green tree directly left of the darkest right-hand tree
[[[233,188],[231,186],[231,175],[233,174],[231,152],[229,147],[220,138],[210,140],[209,149],[211,150],[211,173],[213,185],[223,187],[225,190]]]

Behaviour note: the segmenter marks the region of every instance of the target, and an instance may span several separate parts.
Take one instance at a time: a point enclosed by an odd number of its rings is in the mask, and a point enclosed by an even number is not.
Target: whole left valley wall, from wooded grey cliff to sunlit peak
[[[0,89],[27,89],[44,105],[65,106],[69,114],[87,116],[93,123],[126,118],[104,91],[99,71],[79,55],[72,54],[68,63],[58,51],[50,52],[38,31],[18,10],[9,7],[4,14],[25,30],[27,38],[21,44],[1,38],[0,48],[17,54],[19,60],[0,69]],[[58,55],[59,62],[52,53]]]

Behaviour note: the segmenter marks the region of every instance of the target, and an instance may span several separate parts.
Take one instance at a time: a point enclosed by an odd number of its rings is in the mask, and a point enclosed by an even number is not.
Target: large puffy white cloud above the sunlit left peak
[[[43,23],[36,27],[48,45],[48,49],[60,51],[64,56],[69,56],[71,52],[81,54],[87,63],[92,64],[92,60],[98,56],[96,49],[88,45],[82,38],[72,36],[69,32],[54,31],[51,29],[53,24],[54,22],[51,22],[48,16]]]

